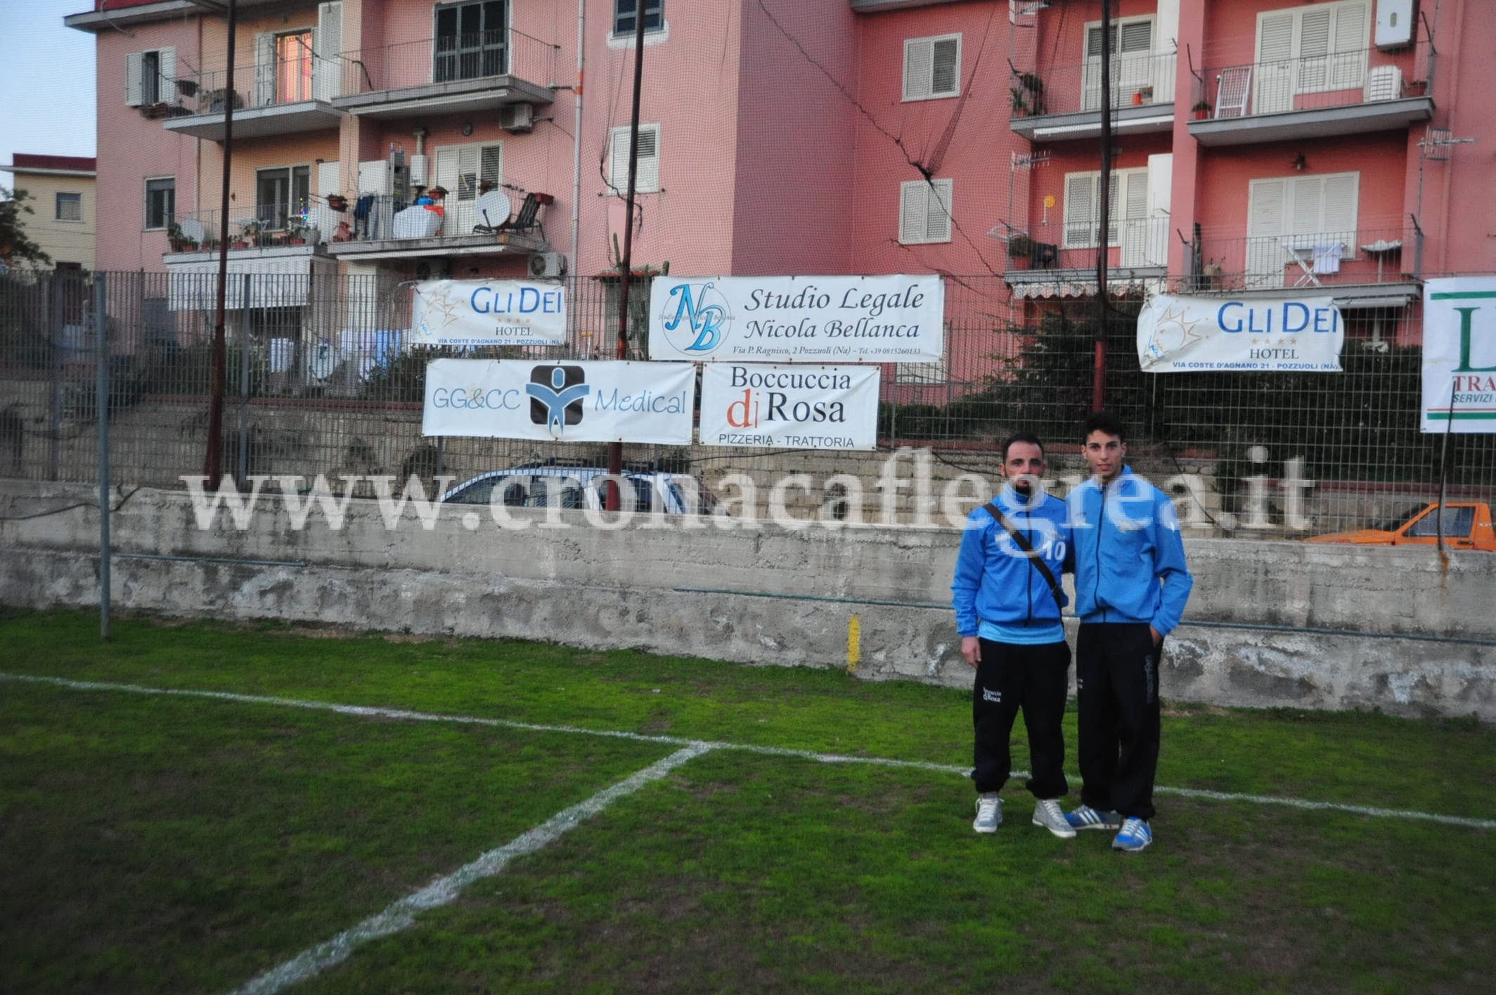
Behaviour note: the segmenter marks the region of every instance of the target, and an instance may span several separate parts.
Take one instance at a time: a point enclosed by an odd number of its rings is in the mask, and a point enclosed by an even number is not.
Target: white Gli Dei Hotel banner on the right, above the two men
[[[1334,298],[1182,298],[1159,293],[1137,316],[1144,373],[1339,373],[1345,320]]]

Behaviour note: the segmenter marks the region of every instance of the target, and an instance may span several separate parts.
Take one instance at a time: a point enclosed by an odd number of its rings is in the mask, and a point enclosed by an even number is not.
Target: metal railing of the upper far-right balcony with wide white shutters
[[[1203,103],[1210,120],[1346,108],[1426,96],[1427,76],[1427,42],[1402,52],[1361,48],[1207,69]]]

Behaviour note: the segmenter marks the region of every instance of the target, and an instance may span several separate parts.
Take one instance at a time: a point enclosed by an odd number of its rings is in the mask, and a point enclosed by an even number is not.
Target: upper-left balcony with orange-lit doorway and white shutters
[[[233,70],[196,72],[171,81],[177,100],[166,109],[166,129],[221,142],[224,111],[233,106],[233,138],[266,138],[335,129],[343,111],[329,100],[340,93],[343,64],[337,57],[268,58]]]

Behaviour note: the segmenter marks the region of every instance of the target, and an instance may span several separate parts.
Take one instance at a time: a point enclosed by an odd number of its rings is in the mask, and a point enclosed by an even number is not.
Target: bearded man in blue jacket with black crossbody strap
[[[1013,435],[1002,453],[1005,485],[990,504],[1005,524],[987,507],[968,516],[950,585],[960,651],[977,670],[971,691],[977,818],[971,826],[989,833],[1002,823],[998,790],[1008,780],[1008,735],[1023,709],[1034,768],[1028,790],[1037,799],[1034,824],[1068,839],[1076,830],[1058,799],[1070,790],[1061,733],[1070,646],[1059,621],[1065,596],[1058,581],[1070,569],[1070,528],[1065,503],[1038,486],[1044,476],[1038,437]]]

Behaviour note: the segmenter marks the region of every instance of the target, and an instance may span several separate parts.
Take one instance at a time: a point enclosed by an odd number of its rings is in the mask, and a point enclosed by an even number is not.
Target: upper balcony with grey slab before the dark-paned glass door
[[[344,52],[343,96],[332,103],[381,120],[548,105],[560,52],[513,28]]]

